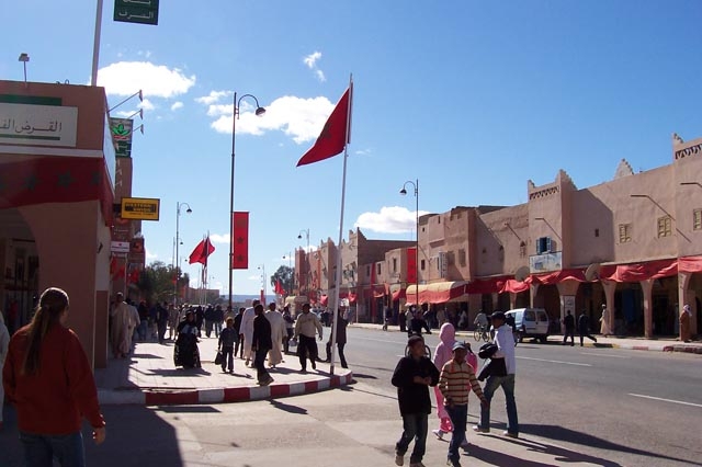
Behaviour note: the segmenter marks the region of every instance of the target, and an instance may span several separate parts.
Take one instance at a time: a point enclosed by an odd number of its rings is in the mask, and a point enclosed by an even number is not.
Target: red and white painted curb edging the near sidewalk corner
[[[103,406],[182,406],[197,403],[246,402],[303,394],[318,392],[351,384],[353,374],[335,375],[304,383],[281,383],[270,386],[193,389],[179,391],[159,390],[112,390],[99,389],[98,397]]]

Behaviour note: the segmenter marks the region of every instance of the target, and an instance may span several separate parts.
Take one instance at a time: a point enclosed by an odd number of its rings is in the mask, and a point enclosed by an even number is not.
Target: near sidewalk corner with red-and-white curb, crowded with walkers
[[[324,356],[324,342],[317,343]],[[223,373],[214,364],[217,339],[202,338],[199,343],[202,368],[183,369],[173,365],[173,343],[137,342],[129,358],[110,358],[106,368],[95,369],[101,405],[184,405],[219,403],[296,396],[351,383],[353,375],[337,362],[335,375],[329,364],[317,362],[314,371],[307,362],[306,375],[299,373],[296,355],[284,355],[284,363],[269,368],[274,383],[261,387],[256,369],[235,358],[234,374]],[[291,350],[294,350],[292,348]]]

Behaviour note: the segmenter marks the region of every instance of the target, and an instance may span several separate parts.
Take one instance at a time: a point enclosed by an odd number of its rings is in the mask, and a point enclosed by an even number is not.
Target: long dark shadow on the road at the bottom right
[[[588,447],[596,447],[598,449],[618,451],[620,453],[634,454],[634,455],[637,455],[637,456],[658,458],[658,459],[666,459],[666,460],[676,460],[676,462],[680,462],[680,463],[698,465],[698,464],[692,463],[692,462],[687,460],[687,459],[666,456],[666,455],[663,455],[663,454],[653,453],[650,451],[637,449],[635,447],[624,446],[624,445],[621,445],[621,444],[612,443],[612,442],[610,442],[608,440],[603,440],[601,437],[593,436],[593,435],[588,434],[588,433],[581,433],[581,432],[578,432],[578,431],[575,431],[575,430],[569,430],[567,428],[557,426],[557,425],[536,425],[536,424],[525,424],[524,425],[524,424],[520,424],[519,425],[519,430],[522,433],[529,433],[529,434],[533,434],[535,436],[547,437],[550,440],[555,440],[555,441],[563,441],[563,442],[567,442],[567,443],[580,444],[580,445],[588,446]],[[514,442],[514,443],[522,444],[521,443],[522,440],[510,440],[510,441]],[[530,441],[530,443],[533,443],[533,444],[536,444],[536,445],[540,444],[540,443],[533,442],[533,441]],[[561,448],[561,447],[548,446],[548,445],[543,445],[543,446],[546,449],[545,452],[547,452],[548,454],[553,454],[553,455],[558,455],[559,452],[573,453],[571,451],[564,449],[564,448]],[[530,446],[530,447],[532,447],[532,446]],[[590,456],[587,456],[587,455],[584,455],[584,454],[577,454],[577,453],[574,453],[574,454],[576,454],[577,456],[584,457],[584,460],[587,460],[589,458],[597,459],[597,457],[590,457]],[[593,460],[588,460],[588,462],[593,462]],[[602,465],[602,466],[619,466],[619,464],[610,463],[610,462],[605,462],[605,464],[598,464],[598,465]]]

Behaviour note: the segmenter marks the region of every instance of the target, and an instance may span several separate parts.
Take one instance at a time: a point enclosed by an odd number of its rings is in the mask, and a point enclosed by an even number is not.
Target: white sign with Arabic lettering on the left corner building
[[[78,107],[0,102],[0,144],[76,147]]]

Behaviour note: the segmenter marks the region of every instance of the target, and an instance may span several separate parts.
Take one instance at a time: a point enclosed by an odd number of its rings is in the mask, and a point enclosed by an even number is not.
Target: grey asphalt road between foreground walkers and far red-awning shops
[[[432,350],[437,333],[426,337]],[[468,342],[477,351],[479,344]],[[349,329],[354,377],[393,395],[399,332]],[[679,353],[543,345],[517,346],[521,430],[623,465],[702,465],[702,358]],[[491,417],[505,423],[503,398]],[[476,421],[477,406],[472,406]]]

